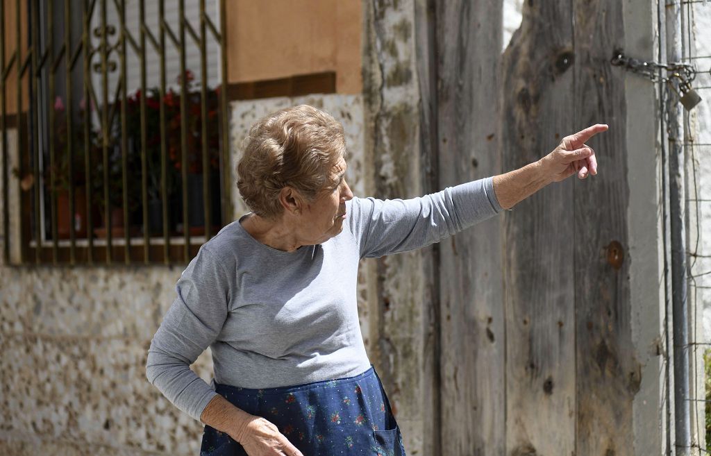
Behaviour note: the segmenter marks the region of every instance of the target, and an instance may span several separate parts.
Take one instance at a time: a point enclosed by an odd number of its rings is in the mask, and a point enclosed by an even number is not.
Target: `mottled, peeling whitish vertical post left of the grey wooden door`
[[[416,1],[365,0],[363,104],[366,153],[373,157],[375,195],[415,197],[429,190],[422,168],[422,100],[416,55]],[[378,302],[370,310],[370,355],[390,396],[410,455],[431,455],[436,416],[423,379],[432,356],[429,323],[431,251],[385,256],[375,262]],[[427,441],[426,441],[427,440]]]

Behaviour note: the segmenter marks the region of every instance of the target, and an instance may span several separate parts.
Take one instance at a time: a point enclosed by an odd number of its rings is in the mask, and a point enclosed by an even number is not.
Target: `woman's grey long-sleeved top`
[[[486,178],[412,200],[354,198],[340,234],[292,253],[232,222],[183,271],[146,376],[199,420],[216,393],[190,364],[207,347],[219,384],[259,389],[358,375],[370,367],[356,306],[360,259],[432,244],[500,211]]]

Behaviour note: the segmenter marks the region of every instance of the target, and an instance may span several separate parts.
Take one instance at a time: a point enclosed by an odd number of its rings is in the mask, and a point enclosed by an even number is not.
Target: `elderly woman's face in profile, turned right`
[[[306,202],[301,211],[299,232],[304,244],[321,244],[336,236],[343,229],[346,219],[346,201],[353,199],[351,188],[346,183],[346,161],[338,160],[329,173],[328,186]]]

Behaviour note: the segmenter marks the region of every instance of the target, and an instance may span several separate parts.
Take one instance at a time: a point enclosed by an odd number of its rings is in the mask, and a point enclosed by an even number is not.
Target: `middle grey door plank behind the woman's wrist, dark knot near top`
[[[572,38],[569,2],[525,2],[503,57],[504,170],[572,134]],[[572,189],[572,178],[553,183],[504,218],[507,455],[575,449]]]

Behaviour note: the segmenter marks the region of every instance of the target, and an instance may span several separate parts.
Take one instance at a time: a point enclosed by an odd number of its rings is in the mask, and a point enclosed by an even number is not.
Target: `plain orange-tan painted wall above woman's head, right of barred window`
[[[336,92],[361,92],[360,0],[233,0],[225,8],[230,82],[335,71]]]

